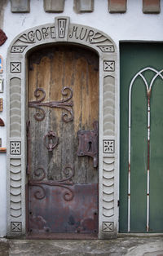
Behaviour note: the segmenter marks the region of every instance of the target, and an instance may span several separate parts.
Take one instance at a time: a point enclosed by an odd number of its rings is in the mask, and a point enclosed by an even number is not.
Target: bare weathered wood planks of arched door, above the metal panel
[[[36,121],[33,117],[36,108],[29,108],[30,171],[33,173],[37,166],[43,166],[46,179],[55,180],[65,178],[64,167],[72,166],[74,183],[97,183],[98,172],[93,167],[92,158],[77,157],[77,131],[93,130],[93,122],[99,120],[98,56],[76,46],[55,46],[36,51],[29,57],[30,102],[37,100],[34,91],[39,87],[46,91],[42,102],[65,99],[67,96],[62,95],[64,86],[73,90],[73,121],[63,121],[62,114],[68,113],[66,110],[45,106],[42,108],[46,117]],[[59,137],[59,144],[52,152],[48,152],[43,143],[49,130]]]

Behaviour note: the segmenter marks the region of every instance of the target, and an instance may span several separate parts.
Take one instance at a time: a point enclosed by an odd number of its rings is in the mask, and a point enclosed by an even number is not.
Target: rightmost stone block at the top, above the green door
[[[143,0],[143,13],[160,13],[160,0]]]

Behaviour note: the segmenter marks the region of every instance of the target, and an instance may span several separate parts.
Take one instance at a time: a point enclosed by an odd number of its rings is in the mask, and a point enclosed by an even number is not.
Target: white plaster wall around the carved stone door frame
[[[125,14],[110,14],[108,0],[95,0],[95,11],[92,13],[77,14],[73,11],[73,0],[65,0],[64,12],[61,14],[46,13],[43,9],[43,0],[31,0],[30,13],[11,13],[11,3],[8,2],[4,13],[3,31],[7,34],[7,41],[0,46],[0,55],[4,60],[4,99],[3,112],[0,117],[6,123],[6,59],[7,48],[17,34],[31,27],[51,23],[57,15],[70,16],[71,23],[84,24],[107,33],[119,45],[120,41],[163,41],[163,1],[161,13],[144,15],[142,1],[128,0]],[[119,78],[117,78],[119,81]],[[119,82],[118,82],[119,84]],[[119,91],[119,90],[118,90]],[[116,114],[117,120],[119,113]],[[119,131],[118,126],[116,129]],[[6,127],[0,127],[2,147],[6,147]],[[118,157],[118,154],[117,154]],[[0,237],[6,236],[6,154],[0,154]],[[118,166],[117,166],[118,170]],[[117,191],[118,192],[118,191]]]

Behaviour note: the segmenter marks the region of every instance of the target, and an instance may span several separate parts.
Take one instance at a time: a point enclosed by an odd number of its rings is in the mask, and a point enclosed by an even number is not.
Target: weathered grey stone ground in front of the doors
[[[163,236],[123,237],[108,241],[1,240],[0,256],[7,255],[161,256],[163,255]]]

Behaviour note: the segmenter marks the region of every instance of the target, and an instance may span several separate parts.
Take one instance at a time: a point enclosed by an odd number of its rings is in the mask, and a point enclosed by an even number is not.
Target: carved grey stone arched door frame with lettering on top
[[[37,46],[65,42],[99,55],[99,239],[117,236],[117,47],[105,33],[64,16],[20,33],[7,54],[7,236],[26,233],[27,57]],[[116,104],[117,103],[117,104]]]

